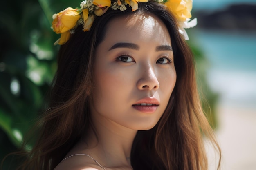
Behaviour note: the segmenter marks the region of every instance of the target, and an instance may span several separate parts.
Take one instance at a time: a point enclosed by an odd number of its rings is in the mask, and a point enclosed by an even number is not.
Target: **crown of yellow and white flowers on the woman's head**
[[[185,29],[194,27],[197,24],[196,18],[190,21],[192,0],[155,1],[163,3],[173,13],[178,21],[180,33],[186,40],[189,40]],[[61,34],[61,38],[54,45],[65,44],[78,25],[83,25],[83,31],[89,31],[94,18],[106,13],[109,7],[113,10],[124,11],[127,9],[126,5],[128,4],[132,7],[132,11],[136,11],[138,2],[148,2],[148,0],[84,0],[80,4],[81,8],[73,9],[68,7],[54,14],[52,16],[52,29],[55,33]]]

